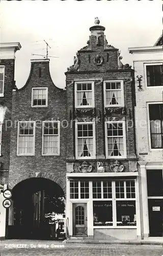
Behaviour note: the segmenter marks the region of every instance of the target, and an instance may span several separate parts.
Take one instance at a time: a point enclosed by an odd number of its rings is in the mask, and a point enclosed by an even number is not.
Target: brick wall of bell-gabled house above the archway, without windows
[[[41,72],[41,73],[40,73]],[[40,76],[41,74],[41,76]],[[48,88],[48,106],[32,108],[32,88]],[[49,73],[49,62],[31,63],[31,72],[25,86],[13,92],[12,132],[9,183],[20,176],[31,172],[53,174],[65,180],[66,172],[66,135],[62,126],[66,119],[66,91],[53,84]],[[18,121],[36,121],[35,156],[17,156],[17,123]],[[60,156],[42,156],[42,121],[60,120]]]

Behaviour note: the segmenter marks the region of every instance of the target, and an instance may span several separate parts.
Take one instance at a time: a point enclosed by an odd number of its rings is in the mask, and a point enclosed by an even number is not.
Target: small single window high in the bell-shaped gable
[[[47,106],[47,88],[32,88],[32,106]]]

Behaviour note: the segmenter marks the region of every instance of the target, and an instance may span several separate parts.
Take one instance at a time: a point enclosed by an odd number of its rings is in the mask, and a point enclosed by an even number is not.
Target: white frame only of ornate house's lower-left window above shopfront
[[[78,157],[78,143],[77,143],[77,125],[78,124],[92,124],[93,125],[93,156],[91,156],[91,157]],[[95,122],[75,122],[75,158],[76,159],[95,159],[96,158]]]

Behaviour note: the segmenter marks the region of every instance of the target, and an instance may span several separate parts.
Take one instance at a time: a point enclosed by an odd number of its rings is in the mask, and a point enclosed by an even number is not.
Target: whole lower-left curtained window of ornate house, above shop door
[[[95,158],[95,123],[76,125],[76,158]]]

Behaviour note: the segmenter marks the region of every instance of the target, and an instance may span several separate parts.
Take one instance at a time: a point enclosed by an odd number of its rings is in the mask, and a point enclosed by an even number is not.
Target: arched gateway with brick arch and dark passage
[[[64,181],[46,173],[29,173],[9,183],[12,205],[9,208],[7,237],[12,239],[55,238],[54,214],[64,214]]]

